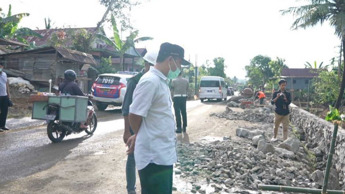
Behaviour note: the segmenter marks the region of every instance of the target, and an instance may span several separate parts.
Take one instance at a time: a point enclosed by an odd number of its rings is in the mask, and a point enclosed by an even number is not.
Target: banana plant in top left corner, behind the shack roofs
[[[29,13],[19,13],[12,15],[11,4],[9,5],[7,15],[1,13],[0,8],[0,38],[12,39],[16,38],[20,42],[29,44],[23,37],[25,36],[37,36],[43,38],[40,34],[32,31],[30,28],[18,28],[18,23],[23,17],[27,17]]]

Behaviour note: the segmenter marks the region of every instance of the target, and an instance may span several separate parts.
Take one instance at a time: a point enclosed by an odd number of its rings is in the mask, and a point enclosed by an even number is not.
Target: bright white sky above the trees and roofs
[[[50,3],[50,4],[49,4]],[[131,22],[139,37],[154,40],[137,43],[137,48],[159,50],[163,42],[185,49],[185,58],[197,65],[225,59],[225,73],[244,79],[244,67],[256,55],[284,58],[289,68],[304,68],[306,61],[329,64],[338,56],[340,40],[328,23],[313,28],[291,30],[293,16],[279,10],[301,6],[295,0],[144,0],[131,11]],[[95,27],[106,8],[98,0],[1,0],[0,7],[12,14],[27,12],[19,23],[31,29],[45,28],[44,18],[53,27]],[[110,24],[104,25],[112,36]],[[126,37],[128,32],[123,33]]]

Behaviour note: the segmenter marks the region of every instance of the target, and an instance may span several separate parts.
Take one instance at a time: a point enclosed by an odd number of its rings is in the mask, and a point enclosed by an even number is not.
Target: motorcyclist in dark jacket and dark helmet
[[[61,92],[61,94],[70,94],[71,96],[87,96],[82,92],[79,85],[75,82],[76,78],[76,72],[71,69],[66,70],[65,79],[59,85],[59,92]],[[79,128],[86,129],[88,127],[83,123],[80,123]]]

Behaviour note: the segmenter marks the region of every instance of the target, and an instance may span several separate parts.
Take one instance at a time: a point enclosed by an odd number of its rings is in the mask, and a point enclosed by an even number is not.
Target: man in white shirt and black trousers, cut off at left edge
[[[2,71],[3,65],[0,64],[0,132],[10,130],[5,127],[8,112],[8,100],[11,98],[7,83],[7,75]]]

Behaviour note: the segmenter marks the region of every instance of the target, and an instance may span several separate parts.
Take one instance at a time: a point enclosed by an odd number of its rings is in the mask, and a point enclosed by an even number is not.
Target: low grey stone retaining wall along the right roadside
[[[306,143],[314,150],[319,148],[327,159],[334,125],[296,107],[291,108],[290,120],[295,126],[304,130]],[[339,181],[345,182],[345,130],[341,127],[338,129],[333,167],[339,173]]]

